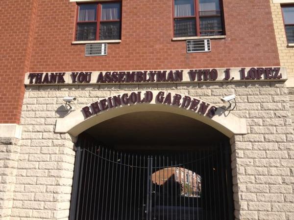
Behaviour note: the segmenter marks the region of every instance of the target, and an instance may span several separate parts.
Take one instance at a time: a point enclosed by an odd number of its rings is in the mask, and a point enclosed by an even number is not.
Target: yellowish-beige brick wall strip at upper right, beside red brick
[[[281,66],[285,66],[287,68],[289,76],[294,76],[294,46],[288,46],[287,43],[281,4],[272,3],[272,0],[270,0],[270,6]]]

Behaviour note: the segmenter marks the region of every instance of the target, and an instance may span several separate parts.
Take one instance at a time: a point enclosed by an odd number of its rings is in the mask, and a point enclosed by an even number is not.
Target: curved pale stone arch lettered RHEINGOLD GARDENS
[[[230,138],[235,134],[247,133],[245,119],[196,97],[170,91],[135,91],[99,99],[64,118],[57,119],[55,132],[77,136],[108,119],[141,111],[163,111],[187,116],[215,128]]]

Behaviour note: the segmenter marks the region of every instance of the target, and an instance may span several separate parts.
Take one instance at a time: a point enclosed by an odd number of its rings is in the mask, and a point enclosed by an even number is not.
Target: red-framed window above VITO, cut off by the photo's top
[[[174,0],[174,37],[223,35],[221,0]]]

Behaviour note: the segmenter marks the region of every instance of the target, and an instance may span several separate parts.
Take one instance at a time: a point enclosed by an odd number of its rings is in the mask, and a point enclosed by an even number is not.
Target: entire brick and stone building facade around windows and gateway
[[[287,42],[281,10],[281,4],[291,2],[222,0],[221,34],[177,37],[174,0],[122,0],[121,17],[117,19],[121,22],[120,39],[92,40],[88,43],[106,43],[107,55],[85,56],[86,43],[77,41],[76,31],[78,5],[88,2],[100,1],[1,2],[1,219],[73,219],[70,206],[79,134],[107,120],[142,111],[182,115],[210,126],[211,131],[200,133],[199,137],[193,133],[186,139],[208,136],[205,144],[209,145],[213,139],[209,135],[218,131],[230,140],[234,219],[294,219],[294,48]],[[114,1],[105,1],[109,2]],[[186,40],[201,39],[210,39],[211,51],[187,53]],[[251,67],[264,68],[260,78],[250,78]],[[272,67],[270,73],[266,72],[267,67]],[[236,76],[235,81],[223,80],[227,68]],[[242,78],[242,68],[247,79]],[[280,71],[276,77],[274,68]],[[216,69],[222,78],[204,80],[205,73],[201,73],[202,81],[191,80],[189,71],[199,69]],[[184,76],[176,82],[98,83],[95,78],[106,71],[151,70],[183,70]],[[92,72],[92,81],[71,81],[72,72],[81,71]],[[254,75],[258,70],[252,71]],[[58,72],[68,77],[65,82],[44,81],[46,73]],[[29,73],[43,73],[45,83],[30,83]],[[152,100],[118,109],[111,109],[108,101],[109,109],[103,111],[101,100],[138,91],[151,91],[154,99],[161,91],[165,95],[171,92],[172,97],[189,96],[218,110],[225,105],[221,97],[236,94],[237,105],[232,111],[213,112],[212,118],[182,110],[180,104],[175,108],[176,101],[169,106]],[[64,107],[63,98],[67,96],[77,99],[71,104],[75,109],[72,112]],[[102,110],[95,115],[91,104],[98,100]],[[93,115],[85,117],[85,107],[92,108]],[[170,121],[167,122],[168,129]],[[127,121],[124,123],[121,130],[127,126]],[[109,141],[119,136],[116,132]],[[148,135],[153,135],[152,131]],[[129,138],[133,146],[139,145],[141,136],[138,140]]]

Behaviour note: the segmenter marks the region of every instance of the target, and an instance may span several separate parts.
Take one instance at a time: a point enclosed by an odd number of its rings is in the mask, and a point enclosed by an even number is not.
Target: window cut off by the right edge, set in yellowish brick
[[[282,6],[287,41],[294,44],[294,5]]]

